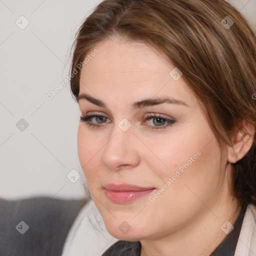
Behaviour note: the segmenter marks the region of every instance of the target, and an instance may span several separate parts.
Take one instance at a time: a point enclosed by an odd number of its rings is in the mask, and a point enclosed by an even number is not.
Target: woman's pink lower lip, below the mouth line
[[[127,203],[134,201],[150,192],[154,189],[140,190],[140,191],[113,191],[105,189],[106,197],[115,203]]]

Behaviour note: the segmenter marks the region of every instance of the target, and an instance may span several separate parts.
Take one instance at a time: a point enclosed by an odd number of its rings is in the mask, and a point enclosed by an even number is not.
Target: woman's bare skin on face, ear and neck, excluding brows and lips
[[[98,53],[81,69],[80,91],[102,100],[107,107],[86,99],[78,104],[82,115],[101,114],[103,121],[80,121],[78,157],[92,199],[108,232],[118,239],[141,243],[140,255],[209,255],[224,239],[220,229],[234,224],[241,205],[228,189],[235,154],[241,158],[252,138],[240,133],[234,147],[222,153],[198,101],[182,76],[174,80],[175,67],[166,56],[139,42],[111,38],[95,45]],[[93,49],[92,49],[93,50]],[[132,109],[130,104],[153,96],[171,96],[188,106],[163,103]],[[157,124],[148,113],[175,122]],[[118,122],[129,120],[123,131]],[[164,127],[159,130],[153,127]],[[253,127],[249,127],[253,132]],[[254,134],[254,133],[253,133]],[[246,141],[243,142],[243,141]],[[235,151],[235,150],[236,151]],[[179,166],[197,151],[201,154],[155,199],[149,201]],[[106,183],[129,183],[155,189],[129,203],[113,203],[105,195]],[[126,221],[130,230],[118,226]]]

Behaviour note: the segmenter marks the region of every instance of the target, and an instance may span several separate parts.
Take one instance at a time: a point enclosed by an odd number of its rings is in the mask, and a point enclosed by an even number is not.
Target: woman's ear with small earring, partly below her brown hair
[[[234,163],[240,160],[250,150],[254,140],[254,134],[255,127],[243,119],[241,129],[233,137],[233,146],[228,147],[228,162]]]

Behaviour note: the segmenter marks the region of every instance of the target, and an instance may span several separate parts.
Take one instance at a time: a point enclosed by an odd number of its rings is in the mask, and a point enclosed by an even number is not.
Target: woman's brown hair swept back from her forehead
[[[227,17],[228,16],[228,17]],[[233,22],[233,23],[232,23]],[[227,26],[229,25],[229,26]],[[247,120],[256,127],[256,37],[224,0],[104,0],[84,20],[73,43],[70,89],[77,101],[80,68],[96,43],[118,36],[166,54],[197,97],[220,148]],[[253,134],[254,136],[254,134]],[[233,192],[256,205],[256,137],[233,165]]]

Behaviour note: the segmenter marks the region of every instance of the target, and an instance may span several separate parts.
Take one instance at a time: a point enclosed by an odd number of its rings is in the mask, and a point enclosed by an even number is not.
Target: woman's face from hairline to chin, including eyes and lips
[[[226,157],[195,96],[164,54],[143,43],[111,39],[95,48],[78,103],[81,115],[99,116],[80,121],[78,157],[107,230],[132,241],[188,227],[225,187]]]

